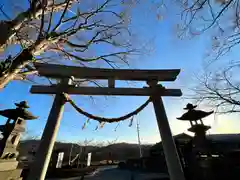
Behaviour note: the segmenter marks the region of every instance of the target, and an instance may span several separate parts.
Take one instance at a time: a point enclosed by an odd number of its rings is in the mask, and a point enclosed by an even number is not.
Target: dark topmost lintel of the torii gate
[[[73,76],[79,79],[115,79],[132,81],[175,81],[180,69],[135,70],[106,69],[56,64],[34,63],[40,76],[62,79]]]

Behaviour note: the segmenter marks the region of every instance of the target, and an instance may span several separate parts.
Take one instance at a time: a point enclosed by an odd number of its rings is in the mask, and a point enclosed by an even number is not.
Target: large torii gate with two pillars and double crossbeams
[[[154,106],[163,150],[171,180],[185,180],[183,169],[178,157],[162,96],[181,96],[180,89],[165,89],[159,81],[175,81],[179,69],[172,70],[131,70],[131,69],[100,69],[55,64],[34,64],[40,76],[60,79],[56,85],[34,85],[30,92],[34,94],[56,94],[42,134],[36,159],[30,168],[29,180],[44,180],[51,158],[53,146],[63,114],[65,98],[63,93],[82,95],[119,95],[119,96],[150,96]],[[109,87],[76,87],[71,77],[78,79],[108,80]],[[145,81],[149,85],[144,88],[115,88],[115,80]]]

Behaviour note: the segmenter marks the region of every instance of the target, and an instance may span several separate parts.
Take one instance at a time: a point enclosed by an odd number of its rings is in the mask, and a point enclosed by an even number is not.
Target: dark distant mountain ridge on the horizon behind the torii
[[[39,140],[21,141],[18,146],[19,157],[22,158],[31,156],[32,152],[37,151],[39,144]],[[147,156],[151,145],[142,145],[141,147],[142,154]],[[84,156],[86,157],[88,152],[91,152],[93,161],[101,161],[106,159],[126,160],[129,158],[139,157],[138,144],[116,143],[104,147],[86,146],[81,148],[77,144],[56,142],[54,146],[54,150],[60,150],[61,152],[64,152],[64,161],[69,159],[71,149],[71,159],[81,152],[81,150],[83,151],[82,158],[84,158]]]

